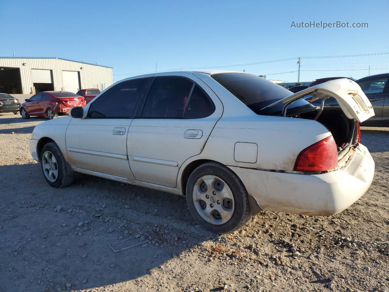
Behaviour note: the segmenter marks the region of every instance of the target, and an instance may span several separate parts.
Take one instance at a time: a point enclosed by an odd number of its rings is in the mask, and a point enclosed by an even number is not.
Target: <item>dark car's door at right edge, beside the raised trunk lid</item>
[[[366,97],[370,100],[375,116],[364,121],[365,124],[382,124],[388,77],[371,77],[358,81]]]

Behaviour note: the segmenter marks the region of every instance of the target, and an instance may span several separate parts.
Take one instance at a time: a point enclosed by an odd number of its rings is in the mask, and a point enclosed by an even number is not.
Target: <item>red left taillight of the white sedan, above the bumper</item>
[[[337,165],[338,149],[331,135],[301,151],[294,164],[294,170],[321,172],[333,169]]]

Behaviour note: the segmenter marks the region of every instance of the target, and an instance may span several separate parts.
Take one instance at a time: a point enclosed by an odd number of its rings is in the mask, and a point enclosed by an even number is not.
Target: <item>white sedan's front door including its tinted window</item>
[[[128,164],[127,135],[135,107],[149,78],[114,84],[73,118],[66,131],[71,164],[78,169],[134,179]]]

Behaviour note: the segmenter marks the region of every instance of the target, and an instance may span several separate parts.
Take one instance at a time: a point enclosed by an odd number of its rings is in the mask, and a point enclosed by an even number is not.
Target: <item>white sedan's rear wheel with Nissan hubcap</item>
[[[186,201],[195,220],[216,233],[233,232],[251,216],[242,181],[217,162],[207,162],[192,172],[186,184]]]

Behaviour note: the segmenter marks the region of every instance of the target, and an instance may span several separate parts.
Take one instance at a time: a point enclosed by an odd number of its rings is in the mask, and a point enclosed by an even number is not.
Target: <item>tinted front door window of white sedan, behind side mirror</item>
[[[150,78],[123,81],[105,91],[89,107],[89,118],[129,118]]]

